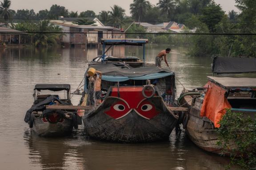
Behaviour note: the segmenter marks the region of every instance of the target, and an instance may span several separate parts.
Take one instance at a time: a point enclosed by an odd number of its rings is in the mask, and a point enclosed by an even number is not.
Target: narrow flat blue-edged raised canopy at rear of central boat
[[[112,46],[112,45],[143,46],[143,44],[148,43],[148,39],[101,39],[101,43],[107,46]]]

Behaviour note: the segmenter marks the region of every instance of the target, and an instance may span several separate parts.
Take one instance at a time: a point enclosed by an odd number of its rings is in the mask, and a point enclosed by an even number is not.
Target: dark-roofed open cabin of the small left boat
[[[42,90],[44,90],[44,94],[41,94]],[[61,95],[60,91],[64,91],[64,94]],[[57,93],[52,94],[53,92],[57,92]],[[51,94],[48,94],[48,93],[51,93]],[[65,103],[71,104],[70,85],[68,84],[37,84],[35,86],[34,94],[33,94],[34,104],[38,104],[41,101],[45,100],[47,97],[50,97],[52,95],[64,101]],[[63,98],[60,98],[60,96]]]

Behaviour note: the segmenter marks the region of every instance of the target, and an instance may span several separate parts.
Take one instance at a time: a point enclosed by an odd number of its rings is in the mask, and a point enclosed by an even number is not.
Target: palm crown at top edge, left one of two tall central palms
[[[130,4],[131,14],[137,21],[140,21],[140,19],[144,19],[149,7],[148,0],[133,0],[133,4]]]

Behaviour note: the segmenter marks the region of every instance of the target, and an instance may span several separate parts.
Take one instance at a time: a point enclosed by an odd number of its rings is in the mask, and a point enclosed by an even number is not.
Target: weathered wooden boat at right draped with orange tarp
[[[225,66],[225,63],[228,66]],[[234,69],[237,63],[239,68]],[[244,65],[241,66],[241,63]],[[255,60],[250,63],[255,63]],[[215,58],[213,66],[213,70],[218,70],[218,73],[239,73],[248,70],[250,64],[238,62],[236,58]],[[250,72],[253,70],[256,71],[255,67],[249,69]],[[244,116],[255,119],[256,78],[208,77],[208,83],[204,88],[181,93],[179,101],[184,107],[190,108],[184,115],[183,127],[192,142],[205,151],[228,154],[226,149],[217,144],[219,141],[217,128],[220,127],[218,122],[225,114],[226,108],[230,108],[233,112],[242,112]],[[233,148],[235,145],[231,144],[230,149]]]

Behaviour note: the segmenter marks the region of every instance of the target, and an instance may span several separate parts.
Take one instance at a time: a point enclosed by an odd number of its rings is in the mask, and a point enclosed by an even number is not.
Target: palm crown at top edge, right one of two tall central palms
[[[162,10],[164,18],[167,21],[168,15],[171,14],[172,10],[175,7],[174,0],[159,0],[159,3],[157,3],[156,5]]]

